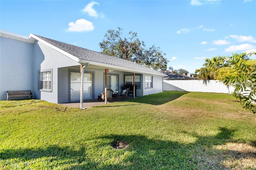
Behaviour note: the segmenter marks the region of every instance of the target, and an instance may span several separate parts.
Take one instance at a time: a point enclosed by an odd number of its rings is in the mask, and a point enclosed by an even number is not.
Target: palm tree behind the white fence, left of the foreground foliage
[[[218,76],[218,69],[224,67],[226,65],[227,57],[224,56],[215,56],[211,59],[206,58],[203,67],[200,69],[196,69],[195,73],[198,79],[204,80],[215,80]]]

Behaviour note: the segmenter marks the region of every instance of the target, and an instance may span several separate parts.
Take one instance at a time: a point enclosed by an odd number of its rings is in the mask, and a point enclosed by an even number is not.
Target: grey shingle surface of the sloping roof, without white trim
[[[45,38],[42,36],[38,36],[35,34],[33,34],[33,35],[47,43],[50,43],[51,45],[54,45],[55,47],[73,55],[74,57],[77,57],[78,59],[83,59],[85,61],[88,61],[89,63],[90,63],[90,61],[93,61],[93,62],[97,62],[97,63],[118,66],[118,67],[122,67],[122,68],[126,68],[126,69],[132,69],[137,72],[148,72],[148,73],[164,76],[163,73],[160,73],[160,72],[150,69],[148,67],[144,67],[144,66],[134,63],[132,61],[128,61],[128,60],[110,56],[110,55],[106,55],[106,54],[103,54],[100,52],[92,51],[90,49],[78,47],[76,45],[59,42],[59,41]]]

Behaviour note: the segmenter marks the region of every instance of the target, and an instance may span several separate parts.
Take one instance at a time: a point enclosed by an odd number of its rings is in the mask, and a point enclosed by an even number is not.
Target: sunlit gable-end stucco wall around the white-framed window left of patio
[[[42,42],[36,41],[34,43],[34,69],[33,69],[33,81],[34,81],[34,91],[35,97],[37,99],[46,100],[52,103],[58,103],[58,98],[62,97],[67,93],[67,87],[65,82],[68,81],[67,69],[58,69],[62,67],[80,65],[76,61],[66,57],[62,53],[48,47]],[[38,81],[38,71],[52,69],[52,91],[40,91],[39,81]],[[58,73],[58,71],[63,71]],[[60,77],[58,77],[60,76]],[[58,83],[61,83],[58,85]],[[60,87],[60,88],[59,88]],[[62,94],[58,97],[58,94]]]

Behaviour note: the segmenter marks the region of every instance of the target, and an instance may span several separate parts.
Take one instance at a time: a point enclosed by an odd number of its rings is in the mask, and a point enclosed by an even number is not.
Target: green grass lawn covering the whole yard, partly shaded
[[[86,110],[0,101],[0,120],[4,170],[256,169],[256,114],[227,94],[165,91]]]

